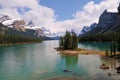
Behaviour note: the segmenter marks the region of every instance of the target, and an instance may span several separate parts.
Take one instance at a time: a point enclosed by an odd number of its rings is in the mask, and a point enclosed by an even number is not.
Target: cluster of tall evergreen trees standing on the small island
[[[66,31],[64,37],[60,37],[59,47],[62,49],[77,49],[78,47],[78,37],[74,31]]]

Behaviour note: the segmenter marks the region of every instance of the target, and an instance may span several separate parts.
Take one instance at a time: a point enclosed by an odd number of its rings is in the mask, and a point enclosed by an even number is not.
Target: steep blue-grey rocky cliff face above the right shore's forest
[[[87,34],[106,34],[120,30],[120,15],[115,12],[105,10],[100,18],[96,28],[87,32]]]

